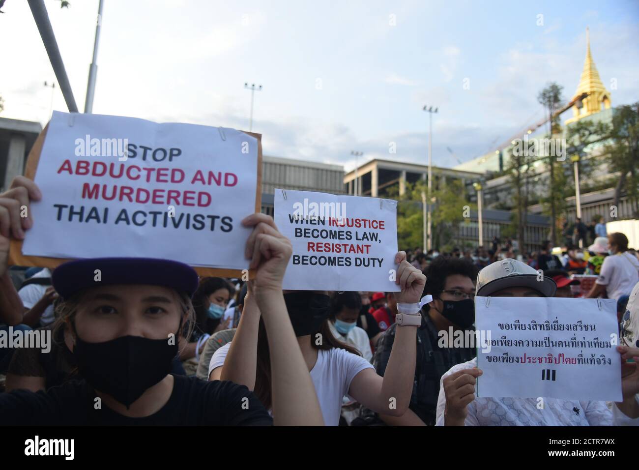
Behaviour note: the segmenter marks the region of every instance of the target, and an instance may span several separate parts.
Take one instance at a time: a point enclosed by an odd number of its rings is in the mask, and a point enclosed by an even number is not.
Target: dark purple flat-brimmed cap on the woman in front
[[[100,270],[100,280],[96,281]],[[184,263],[156,258],[86,258],[59,265],[52,274],[53,286],[61,297],[91,287],[118,284],[165,286],[190,297],[197,289],[197,273]]]

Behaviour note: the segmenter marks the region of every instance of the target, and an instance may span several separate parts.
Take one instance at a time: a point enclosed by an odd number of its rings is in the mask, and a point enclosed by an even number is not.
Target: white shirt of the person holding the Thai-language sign
[[[452,366],[442,375],[437,399],[435,426],[444,425],[446,394],[443,379],[462,369],[477,367],[477,357]],[[544,408],[537,408],[537,398],[477,398],[466,407],[465,426],[612,426],[613,416],[606,402],[559,400],[544,397]]]

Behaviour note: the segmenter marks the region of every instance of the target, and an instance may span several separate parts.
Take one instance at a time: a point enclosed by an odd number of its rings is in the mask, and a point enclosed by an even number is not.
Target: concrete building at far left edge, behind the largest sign
[[[27,155],[40,132],[39,122],[0,118],[0,191],[24,173]]]

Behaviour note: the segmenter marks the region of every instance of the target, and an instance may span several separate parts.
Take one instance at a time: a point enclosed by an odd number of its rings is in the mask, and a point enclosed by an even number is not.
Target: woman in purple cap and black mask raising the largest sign
[[[30,180],[12,187],[38,194]],[[6,193],[0,198],[6,197]],[[20,203],[28,205],[27,201]],[[28,207],[27,207],[28,210]],[[28,212],[30,214],[30,211]],[[0,218],[4,224],[20,219]],[[321,425],[321,412],[281,292],[291,244],[272,218],[252,214],[247,258],[255,272],[256,302],[263,311],[273,371],[277,424]],[[0,235],[0,273],[6,276],[8,240]],[[95,270],[101,280],[95,281]],[[193,322],[191,296],[197,274],[171,260],[93,258],[60,265],[53,284],[63,298],[58,327],[82,380],[47,392],[0,395],[4,425],[270,425],[273,420],[244,386],[172,375],[171,363],[185,325]],[[188,335],[186,335],[188,336]],[[248,400],[248,401],[247,401]],[[96,404],[99,403],[99,406]],[[248,406],[245,406],[248,405]]]

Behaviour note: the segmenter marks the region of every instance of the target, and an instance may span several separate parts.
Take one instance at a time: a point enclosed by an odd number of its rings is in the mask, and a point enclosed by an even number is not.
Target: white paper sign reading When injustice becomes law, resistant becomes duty
[[[401,290],[397,201],[275,189],[275,224],[293,244],[284,289]]]

